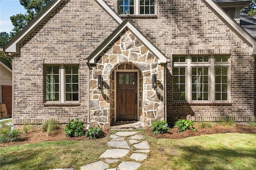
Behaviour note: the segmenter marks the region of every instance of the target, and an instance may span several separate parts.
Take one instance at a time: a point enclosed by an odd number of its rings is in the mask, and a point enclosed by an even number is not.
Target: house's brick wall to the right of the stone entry
[[[116,0],[107,1],[117,12]],[[216,121],[234,117],[254,120],[254,62],[244,43],[201,0],[157,0],[156,15],[129,16],[133,24],[170,59],[166,65],[166,112],[168,121],[187,118]],[[172,55],[230,54],[230,102],[172,102]]]

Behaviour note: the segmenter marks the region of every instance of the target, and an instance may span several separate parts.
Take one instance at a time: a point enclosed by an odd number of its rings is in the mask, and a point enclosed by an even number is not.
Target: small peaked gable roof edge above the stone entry
[[[152,54],[158,58],[158,63],[166,63],[167,57],[150,41],[146,38],[128,19],[124,20],[117,28],[102,42],[87,58],[88,63],[96,63],[97,58],[111,45],[111,43],[126,29],[128,28],[134,36],[142,42]]]

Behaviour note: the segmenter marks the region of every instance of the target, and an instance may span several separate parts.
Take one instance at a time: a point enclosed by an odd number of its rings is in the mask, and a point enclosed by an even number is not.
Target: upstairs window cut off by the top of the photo
[[[124,15],[154,15],[156,0],[118,0],[118,12]]]

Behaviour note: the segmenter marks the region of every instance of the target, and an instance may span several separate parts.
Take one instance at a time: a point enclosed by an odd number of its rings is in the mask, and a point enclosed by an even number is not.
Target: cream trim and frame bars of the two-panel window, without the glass
[[[47,64],[44,66],[44,69],[46,68],[46,66],[51,66],[51,65],[58,65],[59,66],[59,101],[46,101],[45,98],[45,102],[46,103],[79,103],[79,94],[80,94],[80,90],[78,88],[78,101],[66,101],[65,99],[65,66],[66,65],[78,65],[78,64]],[[79,66],[79,65],[78,65]],[[44,73],[44,77],[45,77],[45,73]],[[78,77],[79,77],[79,69],[78,69]],[[45,79],[45,78],[44,78]],[[44,86],[46,82],[44,82]],[[78,81],[78,87],[79,87],[79,81]],[[44,96],[46,95],[46,90],[44,92]]]

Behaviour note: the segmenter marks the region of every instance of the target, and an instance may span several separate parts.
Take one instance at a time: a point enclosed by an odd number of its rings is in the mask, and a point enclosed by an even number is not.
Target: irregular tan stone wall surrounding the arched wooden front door
[[[90,70],[91,122],[109,126],[114,120],[114,70],[140,70],[139,116],[140,121],[151,125],[156,119],[164,119],[164,66],[130,32],[125,30],[98,58]],[[157,74],[158,88],[152,89],[153,73]],[[140,75],[141,74],[141,75]],[[102,93],[97,89],[97,75],[103,77]]]

